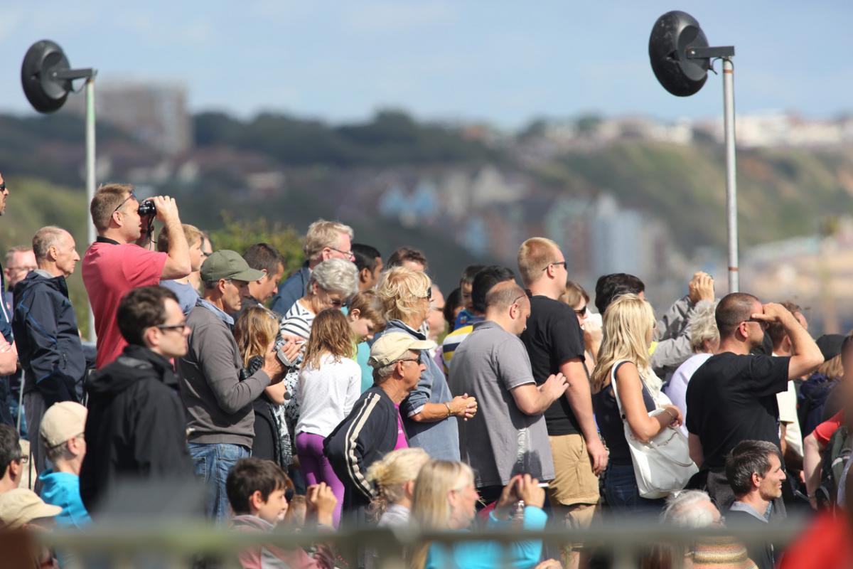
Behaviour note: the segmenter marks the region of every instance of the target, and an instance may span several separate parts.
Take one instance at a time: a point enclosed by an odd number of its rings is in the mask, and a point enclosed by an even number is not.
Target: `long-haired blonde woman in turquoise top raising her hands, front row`
[[[421,467],[415,480],[412,520],[427,531],[467,530],[474,519],[479,494],[474,488],[471,467],[463,462],[430,461]],[[523,520],[512,520],[514,504],[525,502]],[[529,474],[514,476],[503,489],[486,527],[507,528],[518,523],[525,530],[541,530],[548,521],[543,512],[545,491]],[[491,569],[502,566],[504,553],[509,566],[525,569],[536,566],[542,542],[510,543],[506,550],[496,542],[461,542],[450,548],[422,543],[413,551],[412,569]]]

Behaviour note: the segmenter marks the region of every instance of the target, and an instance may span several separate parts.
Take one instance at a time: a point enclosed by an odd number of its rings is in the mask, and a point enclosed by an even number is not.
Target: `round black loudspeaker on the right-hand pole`
[[[648,39],[652,71],[665,90],[676,96],[691,96],[708,78],[708,59],[688,59],[688,48],[707,48],[708,40],[699,22],[685,12],[673,10],[660,16]]]

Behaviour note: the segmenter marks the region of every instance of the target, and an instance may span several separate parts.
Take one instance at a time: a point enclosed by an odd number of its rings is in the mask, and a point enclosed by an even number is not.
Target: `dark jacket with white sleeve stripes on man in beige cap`
[[[373,386],[358,398],[350,415],[323,441],[323,452],[344,484],[344,508],[370,503],[375,495],[368,483],[368,467],[394,450],[397,444],[397,408],[382,390]]]

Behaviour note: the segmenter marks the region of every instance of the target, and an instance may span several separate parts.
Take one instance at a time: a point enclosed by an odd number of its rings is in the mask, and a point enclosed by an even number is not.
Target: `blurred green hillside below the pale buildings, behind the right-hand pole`
[[[814,234],[822,217],[853,206],[850,149],[740,150],[741,247]],[[653,213],[682,247],[724,247],[725,161],[722,148],[622,142],[568,154],[547,169],[568,188],[610,190],[626,206]]]

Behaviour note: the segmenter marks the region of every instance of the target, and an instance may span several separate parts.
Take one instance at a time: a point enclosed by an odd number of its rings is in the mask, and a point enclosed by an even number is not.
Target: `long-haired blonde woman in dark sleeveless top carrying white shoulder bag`
[[[682,412],[669,403],[658,415],[648,415],[658,409],[656,401],[661,399],[660,380],[649,367],[648,355],[655,326],[652,305],[636,294],[618,297],[604,313],[604,338],[591,378],[592,401],[595,420],[610,450],[604,474],[606,502],[617,512],[662,508],[664,502],[640,496],[612,381],[616,381],[625,421],[638,440],[651,440],[666,427],[679,427],[683,422]]]

